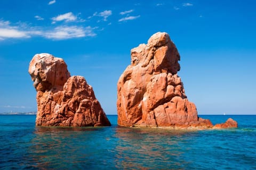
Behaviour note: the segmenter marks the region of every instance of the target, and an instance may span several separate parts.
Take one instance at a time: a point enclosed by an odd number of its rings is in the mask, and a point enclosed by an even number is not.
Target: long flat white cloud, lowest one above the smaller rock
[[[45,38],[49,39],[70,39],[70,38],[79,38],[87,36],[95,36],[93,33],[93,28],[89,27],[77,27],[77,26],[59,26],[54,28],[52,31],[46,31],[43,34]]]

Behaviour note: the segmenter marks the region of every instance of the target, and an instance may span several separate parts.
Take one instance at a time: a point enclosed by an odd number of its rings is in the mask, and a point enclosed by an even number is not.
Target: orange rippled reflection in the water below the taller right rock
[[[188,167],[180,145],[197,132],[117,127],[115,164],[118,169],[180,169]],[[188,148],[187,148],[188,149]],[[161,165],[159,165],[161,163]],[[130,167],[130,168],[129,168]]]

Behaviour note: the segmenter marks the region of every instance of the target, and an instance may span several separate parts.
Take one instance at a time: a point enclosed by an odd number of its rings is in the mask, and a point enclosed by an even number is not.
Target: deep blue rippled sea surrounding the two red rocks
[[[0,169],[256,169],[256,115],[238,128],[173,131],[35,127],[35,115],[0,115]]]

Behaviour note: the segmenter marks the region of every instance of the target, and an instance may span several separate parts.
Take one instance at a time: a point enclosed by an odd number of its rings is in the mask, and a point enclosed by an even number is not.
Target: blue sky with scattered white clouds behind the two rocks
[[[199,114],[256,114],[255,1],[0,1],[0,112],[36,111],[37,53],[63,58],[116,114],[130,50],[157,31],[181,55],[178,75]]]

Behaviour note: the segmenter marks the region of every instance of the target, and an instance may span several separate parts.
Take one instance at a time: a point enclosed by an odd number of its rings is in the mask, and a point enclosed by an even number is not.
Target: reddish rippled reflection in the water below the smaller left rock
[[[32,169],[93,169],[107,163],[98,154],[108,149],[107,128],[36,127],[27,156]],[[94,138],[97,137],[97,140]],[[101,139],[102,137],[102,139]],[[107,158],[110,158],[108,156]],[[106,159],[107,159],[106,158]]]

